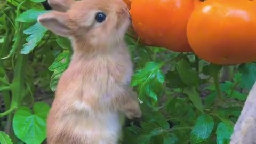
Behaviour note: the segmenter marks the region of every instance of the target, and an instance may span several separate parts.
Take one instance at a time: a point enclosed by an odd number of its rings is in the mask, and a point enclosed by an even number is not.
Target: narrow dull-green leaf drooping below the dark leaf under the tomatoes
[[[203,103],[199,93],[196,91],[196,87],[186,87],[184,88],[184,93],[188,95],[189,99],[192,101],[193,105],[203,113]]]

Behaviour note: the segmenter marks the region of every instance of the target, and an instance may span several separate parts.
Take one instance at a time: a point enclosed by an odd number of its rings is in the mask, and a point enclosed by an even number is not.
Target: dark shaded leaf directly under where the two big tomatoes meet
[[[180,60],[177,63],[176,69],[180,78],[186,85],[197,85],[199,83],[199,76],[197,72],[190,67],[188,60]]]

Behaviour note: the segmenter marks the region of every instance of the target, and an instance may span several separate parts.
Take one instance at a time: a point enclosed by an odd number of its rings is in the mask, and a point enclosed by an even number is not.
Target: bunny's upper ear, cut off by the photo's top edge
[[[48,0],[52,9],[60,12],[68,11],[74,2],[75,0]]]

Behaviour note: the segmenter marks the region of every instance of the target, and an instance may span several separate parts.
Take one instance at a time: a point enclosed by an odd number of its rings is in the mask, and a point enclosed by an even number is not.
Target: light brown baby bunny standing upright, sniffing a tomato
[[[49,144],[116,144],[121,116],[140,118],[129,86],[133,66],[124,42],[131,18],[122,0],[50,0],[53,11],[38,17],[68,37],[73,56],[62,74],[47,118]]]

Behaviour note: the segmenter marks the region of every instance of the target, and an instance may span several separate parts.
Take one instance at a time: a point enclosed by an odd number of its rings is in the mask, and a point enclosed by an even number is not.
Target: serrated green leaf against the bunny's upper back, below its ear
[[[58,81],[62,73],[68,68],[70,62],[70,51],[63,50],[63,52],[55,59],[52,65],[49,67],[50,71],[53,71],[51,77],[51,89],[52,91],[56,90]]]

